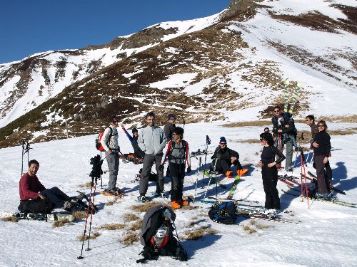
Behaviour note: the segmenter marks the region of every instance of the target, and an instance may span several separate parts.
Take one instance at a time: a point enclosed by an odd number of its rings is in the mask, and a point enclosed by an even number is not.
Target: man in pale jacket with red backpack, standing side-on
[[[113,116],[110,120],[111,124],[104,130],[103,137],[101,138],[101,145],[106,151],[106,162],[109,167],[109,184],[108,188],[102,192],[107,196],[116,196],[121,193],[121,190],[116,187],[116,179],[118,178],[119,170],[119,152],[118,145],[118,117]]]

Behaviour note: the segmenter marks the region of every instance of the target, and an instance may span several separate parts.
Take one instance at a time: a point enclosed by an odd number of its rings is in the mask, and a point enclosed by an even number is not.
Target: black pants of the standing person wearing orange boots
[[[182,199],[183,179],[185,178],[185,164],[169,162],[171,172],[171,201]]]

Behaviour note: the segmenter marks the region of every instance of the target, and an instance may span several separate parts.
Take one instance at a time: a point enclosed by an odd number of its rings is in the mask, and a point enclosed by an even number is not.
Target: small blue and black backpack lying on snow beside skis
[[[237,218],[236,206],[233,201],[213,204],[208,211],[208,216],[218,224],[234,224]]]

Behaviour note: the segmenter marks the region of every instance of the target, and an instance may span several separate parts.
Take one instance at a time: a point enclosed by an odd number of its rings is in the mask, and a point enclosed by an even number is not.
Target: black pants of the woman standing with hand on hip
[[[276,166],[269,168],[263,164],[261,168],[264,192],[266,193],[266,209],[280,209],[280,199],[276,184],[278,183],[278,169]]]

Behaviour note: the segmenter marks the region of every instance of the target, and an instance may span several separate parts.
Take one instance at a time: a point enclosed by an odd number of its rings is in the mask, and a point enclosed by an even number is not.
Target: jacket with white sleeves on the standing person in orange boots
[[[183,142],[185,145],[183,145]],[[182,164],[186,161],[187,167],[190,167],[191,158],[188,142],[185,140],[179,140],[178,142],[170,140],[165,147],[164,157],[162,157],[161,164],[165,163],[166,157],[169,157],[169,162],[174,164]]]

